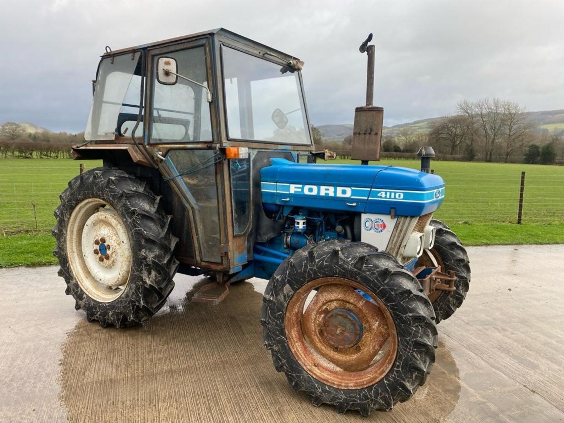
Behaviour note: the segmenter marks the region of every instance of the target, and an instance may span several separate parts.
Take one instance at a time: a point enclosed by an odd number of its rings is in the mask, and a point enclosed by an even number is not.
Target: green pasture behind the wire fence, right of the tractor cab
[[[370,164],[420,167],[418,160],[403,159]],[[431,169],[446,184],[435,217],[447,224],[516,223],[521,171],[525,171],[522,222],[564,223],[564,166],[433,161]]]

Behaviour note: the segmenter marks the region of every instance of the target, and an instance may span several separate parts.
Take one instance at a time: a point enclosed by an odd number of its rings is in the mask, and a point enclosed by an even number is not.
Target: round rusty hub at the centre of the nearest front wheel
[[[360,320],[345,309],[333,309],[325,314],[319,329],[324,340],[337,348],[354,347],[362,338]]]

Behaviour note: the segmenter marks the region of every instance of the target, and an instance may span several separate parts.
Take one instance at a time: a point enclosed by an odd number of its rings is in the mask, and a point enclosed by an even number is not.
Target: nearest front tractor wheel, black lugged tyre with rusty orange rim
[[[265,347],[294,390],[315,406],[364,416],[425,383],[437,347],[433,319],[417,279],[393,256],[348,241],[309,245],[285,260],[261,315]]]

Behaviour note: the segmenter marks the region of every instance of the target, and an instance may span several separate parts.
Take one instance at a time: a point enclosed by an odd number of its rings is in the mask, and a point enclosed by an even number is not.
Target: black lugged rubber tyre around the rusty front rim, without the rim
[[[396,359],[374,385],[350,390],[326,385],[301,367],[288,346],[284,316],[290,298],[308,281],[331,276],[356,280],[372,290],[394,319]],[[401,299],[399,293],[404,293]],[[438,337],[433,306],[421,285],[392,255],[365,243],[326,241],[306,246],[286,259],[266,287],[261,323],[265,347],[290,386],[304,391],[314,406],[329,404],[340,413],[353,409],[368,416],[372,409],[389,411],[425,383],[435,361]]]

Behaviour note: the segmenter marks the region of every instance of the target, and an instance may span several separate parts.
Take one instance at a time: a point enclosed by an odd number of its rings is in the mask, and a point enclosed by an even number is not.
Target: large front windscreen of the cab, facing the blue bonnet
[[[298,72],[222,46],[230,139],[310,145]]]

